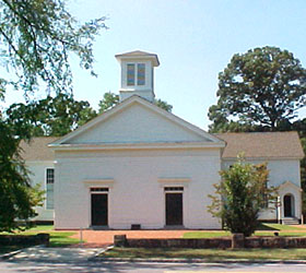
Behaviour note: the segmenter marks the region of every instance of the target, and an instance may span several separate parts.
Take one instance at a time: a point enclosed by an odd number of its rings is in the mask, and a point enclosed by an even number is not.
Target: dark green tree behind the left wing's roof
[[[13,104],[7,110],[7,121],[16,135],[64,135],[96,117],[89,102],[75,100],[72,95],[58,94],[27,105]]]

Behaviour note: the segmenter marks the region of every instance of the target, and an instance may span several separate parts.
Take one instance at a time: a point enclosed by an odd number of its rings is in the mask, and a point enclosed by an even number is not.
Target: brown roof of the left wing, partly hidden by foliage
[[[56,141],[57,136],[39,136],[33,138],[30,143],[21,141],[21,156],[24,161],[54,161],[55,155],[51,149],[48,147],[50,142]]]

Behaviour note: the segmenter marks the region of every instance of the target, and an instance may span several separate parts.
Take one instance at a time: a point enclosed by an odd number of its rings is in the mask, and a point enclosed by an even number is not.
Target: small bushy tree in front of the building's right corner
[[[209,195],[209,211],[223,221],[225,229],[250,236],[258,226],[259,212],[276,198],[275,188],[267,186],[267,164],[246,164],[238,158],[220,174],[221,183],[214,185],[216,195]]]

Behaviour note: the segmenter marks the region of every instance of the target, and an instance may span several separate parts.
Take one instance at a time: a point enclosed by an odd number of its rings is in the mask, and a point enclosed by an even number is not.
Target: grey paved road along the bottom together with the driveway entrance
[[[133,263],[133,262],[90,262],[97,249],[85,248],[28,248],[0,262],[1,273],[207,273],[207,272],[261,272],[293,273],[306,272],[306,264],[239,264],[239,263]]]

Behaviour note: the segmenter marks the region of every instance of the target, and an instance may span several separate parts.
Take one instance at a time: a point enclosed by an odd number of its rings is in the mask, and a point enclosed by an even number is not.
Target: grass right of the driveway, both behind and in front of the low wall
[[[279,224],[261,224],[256,236],[306,236],[306,228]],[[185,233],[184,238],[212,238],[231,236],[225,230],[199,230]],[[204,259],[207,261],[235,260],[305,260],[306,249],[184,249],[184,248],[113,248],[103,258],[161,258]]]

